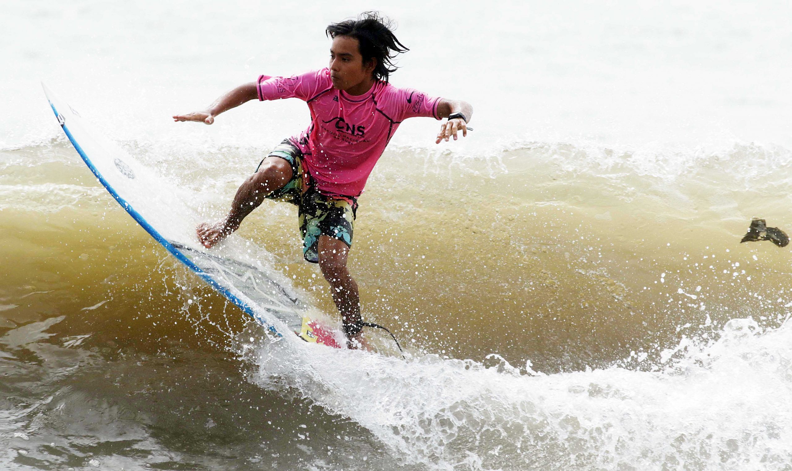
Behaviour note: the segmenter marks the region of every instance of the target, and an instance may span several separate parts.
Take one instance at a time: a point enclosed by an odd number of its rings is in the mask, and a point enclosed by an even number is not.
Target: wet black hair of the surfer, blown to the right
[[[391,59],[400,52],[409,51],[396,39],[393,29],[393,22],[388,17],[383,17],[379,12],[367,11],[360,13],[357,19],[329,24],[325,32],[333,39],[336,36],[349,36],[358,40],[364,62],[371,58],[377,59],[374,78],[387,82],[388,75],[398,68]]]

